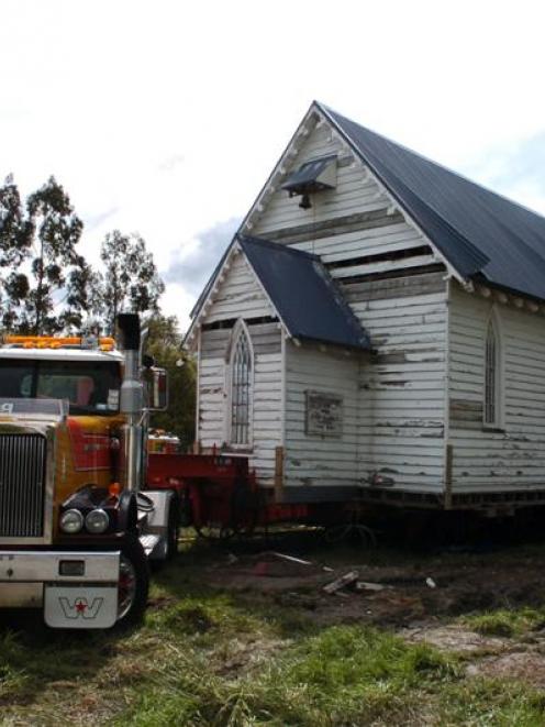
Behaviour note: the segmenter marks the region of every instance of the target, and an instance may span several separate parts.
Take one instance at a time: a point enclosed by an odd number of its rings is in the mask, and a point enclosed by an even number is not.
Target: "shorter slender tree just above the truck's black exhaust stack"
[[[158,312],[158,300],[165,285],[143,238],[114,230],[104,238],[100,257],[105,267],[101,297],[104,323],[110,334],[122,310]]]

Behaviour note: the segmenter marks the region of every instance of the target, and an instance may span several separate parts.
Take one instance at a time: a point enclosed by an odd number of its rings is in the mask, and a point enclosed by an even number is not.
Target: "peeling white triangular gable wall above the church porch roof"
[[[302,196],[282,188],[302,165],[336,157],[332,189]],[[444,264],[371,170],[318,110],[296,133],[243,230],[320,255],[332,277],[345,279]]]

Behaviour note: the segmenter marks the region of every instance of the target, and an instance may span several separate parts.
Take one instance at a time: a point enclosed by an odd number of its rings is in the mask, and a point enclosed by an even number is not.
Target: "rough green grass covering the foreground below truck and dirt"
[[[216,555],[214,555],[216,558]],[[55,632],[0,625],[0,725],[111,727],[537,727],[544,693],[468,676],[467,662],[388,629],[320,626],[274,598],[203,584],[210,552],[154,580],[142,626]],[[464,617],[523,636],[540,609]]]

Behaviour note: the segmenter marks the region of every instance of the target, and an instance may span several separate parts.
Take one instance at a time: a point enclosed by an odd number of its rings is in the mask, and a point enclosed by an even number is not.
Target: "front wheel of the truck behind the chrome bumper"
[[[144,615],[149,586],[146,554],[137,539],[127,540],[121,548],[118,582],[118,624],[138,621]]]

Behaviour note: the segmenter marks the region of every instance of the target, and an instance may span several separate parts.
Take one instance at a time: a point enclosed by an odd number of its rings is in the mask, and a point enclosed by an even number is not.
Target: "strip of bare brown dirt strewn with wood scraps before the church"
[[[364,621],[405,628],[413,621],[436,625],[465,614],[545,605],[541,558],[503,560],[496,553],[419,560],[403,565],[275,559],[270,553],[221,561],[207,569],[209,585],[244,592],[257,603],[300,609],[319,625]],[[461,562],[460,562],[461,561]],[[327,595],[326,583],[351,571],[381,591],[346,587]],[[355,585],[355,584],[353,584]]]

